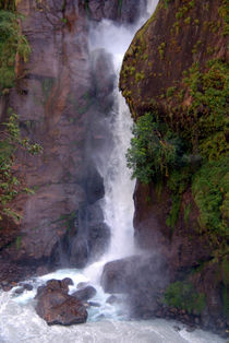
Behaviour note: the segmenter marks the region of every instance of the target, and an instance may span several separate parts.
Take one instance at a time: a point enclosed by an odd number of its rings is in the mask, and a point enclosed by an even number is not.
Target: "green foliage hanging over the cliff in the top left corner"
[[[0,92],[14,85],[16,55],[27,61],[31,47],[21,32],[22,15],[15,12],[19,1],[0,1]]]

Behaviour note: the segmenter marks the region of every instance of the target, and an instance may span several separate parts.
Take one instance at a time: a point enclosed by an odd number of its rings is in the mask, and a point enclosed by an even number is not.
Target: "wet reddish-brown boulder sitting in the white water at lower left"
[[[87,319],[85,306],[75,297],[68,295],[68,285],[60,280],[50,280],[37,289],[36,312],[49,326],[71,326]]]

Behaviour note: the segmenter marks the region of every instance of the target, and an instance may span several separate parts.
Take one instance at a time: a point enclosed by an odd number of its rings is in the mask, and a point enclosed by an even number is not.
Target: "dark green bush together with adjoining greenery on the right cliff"
[[[133,177],[143,184],[162,178],[171,190],[172,205],[167,217],[171,228],[179,217],[182,194],[191,186],[200,209],[198,224],[203,232],[210,233],[209,239],[217,246],[227,236],[229,220],[228,74],[228,64],[220,60],[209,60],[204,71],[194,63],[183,79],[183,90],[190,93],[192,103],[183,108],[180,127],[176,120],[145,114],[134,125],[126,154]],[[180,103],[185,91],[181,92],[169,87],[167,98],[172,96]],[[180,108],[174,111],[180,113]]]

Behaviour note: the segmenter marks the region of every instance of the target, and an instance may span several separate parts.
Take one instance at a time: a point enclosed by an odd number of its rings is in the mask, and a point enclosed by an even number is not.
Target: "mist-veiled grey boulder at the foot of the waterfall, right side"
[[[126,294],[131,316],[141,318],[155,314],[157,294],[168,282],[168,265],[159,253],[108,262],[101,275],[104,291]]]

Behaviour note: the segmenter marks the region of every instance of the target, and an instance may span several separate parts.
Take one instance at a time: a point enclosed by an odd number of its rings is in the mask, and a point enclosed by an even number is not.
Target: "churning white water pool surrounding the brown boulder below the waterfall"
[[[36,287],[52,277],[69,276],[74,285],[88,281],[86,270],[59,270],[36,280],[29,280],[34,285],[32,292],[26,291],[16,296],[15,289],[0,294],[0,342],[1,343],[224,343],[225,341],[202,330],[188,332],[178,322],[162,319],[130,321],[125,318],[124,309],[112,307],[106,303],[108,294],[104,294],[97,285],[94,301],[100,303],[99,308],[88,310],[88,322],[80,326],[48,327],[34,309],[33,297]]]

